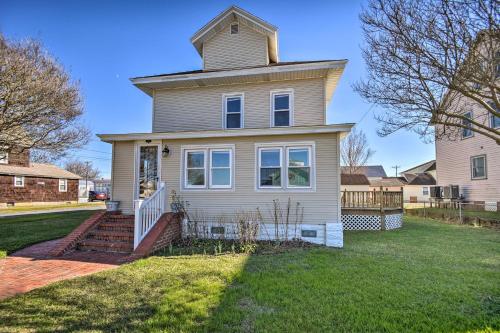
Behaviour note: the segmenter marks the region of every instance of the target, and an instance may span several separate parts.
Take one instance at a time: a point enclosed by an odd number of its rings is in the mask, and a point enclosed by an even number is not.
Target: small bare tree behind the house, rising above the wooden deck
[[[351,130],[340,147],[342,164],[347,166],[349,173],[356,173],[360,167],[366,165],[374,153],[368,145],[365,133],[361,130],[358,132],[356,128]]]

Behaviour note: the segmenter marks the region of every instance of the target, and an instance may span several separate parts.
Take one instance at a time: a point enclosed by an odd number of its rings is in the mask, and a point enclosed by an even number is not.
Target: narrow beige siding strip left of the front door
[[[134,142],[113,144],[111,199],[120,201],[125,214],[133,214],[134,161]]]

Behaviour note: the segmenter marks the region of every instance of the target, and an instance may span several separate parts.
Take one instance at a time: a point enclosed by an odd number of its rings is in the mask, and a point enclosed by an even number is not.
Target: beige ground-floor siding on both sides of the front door
[[[316,150],[316,189],[314,192],[257,192],[256,184],[256,152],[255,143],[268,142],[300,142],[314,141]],[[265,217],[269,216],[269,209],[273,199],[279,199],[283,205],[290,197],[294,202],[300,202],[304,207],[304,223],[325,223],[338,221],[339,197],[339,161],[336,134],[315,134],[295,136],[274,136],[256,138],[210,138],[196,140],[166,140],[171,154],[162,159],[161,179],[165,181],[169,192],[176,190],[189,201],[192,211],[204,212],[207,216],[215,217],[220,214],[231,214],[238,210],[261,209]],[[181,151],[186,145],[207,144],[234,144],[235,145],[235,189],[234,190],[181,190]],[[124,144],[118,144],[121,147]],[[133,151],[129,144],[127,149],[116,149],[117,153],[128,154]],[[117,165],[124,163],[126,165]],[[133,193],[133,159],[116,158],[113,170],[125,170],[122,173],[114,172],[114,193],[120,193],[123,200],[132,202]],[[118,192],[117,192],[118,191]],[[122,204],[122,207],[125,205]],[[131,204],[127,204],[132,213]]]

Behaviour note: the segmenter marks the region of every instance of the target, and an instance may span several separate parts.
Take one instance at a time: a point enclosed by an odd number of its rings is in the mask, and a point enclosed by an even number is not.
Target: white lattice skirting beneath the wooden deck
[[[342,225],[344,230],[381,230],[380,215],[351,215],[342,214]],[[403,225],[403,214],[385,215],[386,230],[401,228]]]

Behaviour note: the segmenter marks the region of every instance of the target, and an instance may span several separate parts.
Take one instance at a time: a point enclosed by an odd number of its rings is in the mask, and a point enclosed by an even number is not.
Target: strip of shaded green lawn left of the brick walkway
[[[0,217],[0,260],[28,245],[66,236],[95,211]]]

